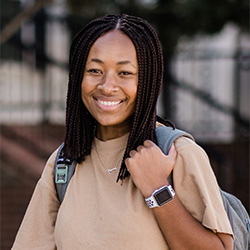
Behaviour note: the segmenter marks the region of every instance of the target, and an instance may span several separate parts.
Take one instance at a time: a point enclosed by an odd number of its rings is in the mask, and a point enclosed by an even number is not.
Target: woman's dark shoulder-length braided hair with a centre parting
[[[66,135],[63,152],[65,158],[78,163],[84,161],[91,153],[96,120],[82,102],[83,71],[94,42],[101,35],[116,29],[124,32],[133,42],[139,69],[135,113],[117,177],[118,181],[129,175],[124,163],[129,152],[147,139],[157,143],[156,120],[163,122],[156,115],[157,99],[163,81],[162,50],[154,29],[147,21],[126,14],[106,15],[91,21],[74,37],[69,58]]]

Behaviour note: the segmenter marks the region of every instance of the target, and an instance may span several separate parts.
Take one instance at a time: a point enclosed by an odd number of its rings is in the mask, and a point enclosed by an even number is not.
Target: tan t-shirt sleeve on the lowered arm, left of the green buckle
[[[12,250],[53,250],[54,226],[59,209],[53,171],[56,152],[49,158],[38,181]]]

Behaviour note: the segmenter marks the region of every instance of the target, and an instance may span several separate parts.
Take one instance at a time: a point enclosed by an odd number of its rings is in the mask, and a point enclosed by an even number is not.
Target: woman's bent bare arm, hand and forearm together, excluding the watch
[[[148,198],[154,190],[168,185],[167,177],[175,165],[176,150],[165,156],[151,141],[130,153],[125,163],[135,185]],[[213,233],[198,222],[182,205],[178,196],[165,206],[153,208],[155,218],[171,249],[233,249],[229,234]]]

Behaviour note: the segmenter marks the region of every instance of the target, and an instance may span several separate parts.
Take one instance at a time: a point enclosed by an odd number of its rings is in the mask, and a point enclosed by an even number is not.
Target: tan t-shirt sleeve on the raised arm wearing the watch
[[[213,232],[233,235],[214,172],[205,151],[187,138],[175,142],[178,152],[173,184],[186,209]]]

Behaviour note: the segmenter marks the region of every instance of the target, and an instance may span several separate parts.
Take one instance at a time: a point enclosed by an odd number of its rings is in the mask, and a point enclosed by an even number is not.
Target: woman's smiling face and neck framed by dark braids
[[[119,30],[99,37],[86,61],[81,93],[99,128],[130,130],[137,85],[137,56],[130,38]]]

